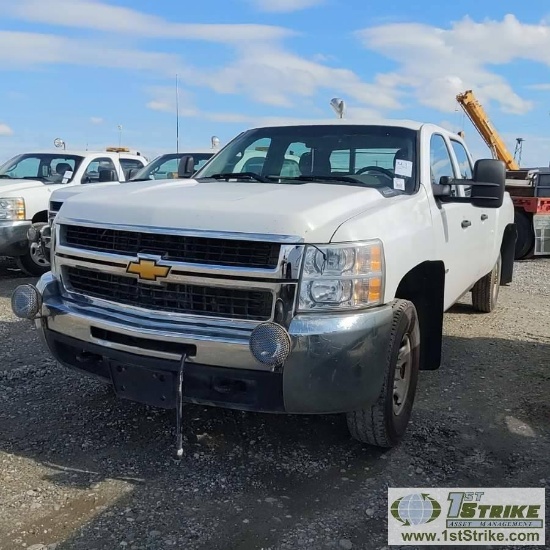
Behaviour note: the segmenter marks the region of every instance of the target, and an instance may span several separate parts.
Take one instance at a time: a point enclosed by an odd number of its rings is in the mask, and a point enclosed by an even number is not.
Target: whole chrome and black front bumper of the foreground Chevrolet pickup
[[[350,314],[301,314],[278,371],[249,351],[255,325],[108,309],[62,296],[51,273],[38,289],[37,327],[63,365],[113,384],[121,397],[171,408],[182,353],[184,400],[242,410],[340,413],[372,404],[385,373],[391,306]]]

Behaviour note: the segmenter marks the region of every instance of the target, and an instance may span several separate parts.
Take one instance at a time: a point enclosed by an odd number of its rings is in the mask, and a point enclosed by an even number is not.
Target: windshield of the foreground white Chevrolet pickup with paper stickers
[[[195,178],[335,182],[412,193],[416,137],[414,130],[393,126],[259,128],[231,141]]]

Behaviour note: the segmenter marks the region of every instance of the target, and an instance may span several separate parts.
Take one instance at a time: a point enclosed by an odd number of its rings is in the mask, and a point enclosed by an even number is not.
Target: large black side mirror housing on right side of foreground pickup
[[[506,165],[501,160],[482,159],[474,165],[470,201],[480,208],[500,208],[504,202]]]

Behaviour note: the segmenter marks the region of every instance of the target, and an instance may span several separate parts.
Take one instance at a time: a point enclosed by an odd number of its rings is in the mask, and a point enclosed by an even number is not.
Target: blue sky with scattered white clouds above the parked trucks
[[[464,130],[473,89],[524,166],[550,163],[547,0],[0,0],[0,162],[62,138],[152,158],[274,121]],[[119,128],[121,127],[121,129]]]

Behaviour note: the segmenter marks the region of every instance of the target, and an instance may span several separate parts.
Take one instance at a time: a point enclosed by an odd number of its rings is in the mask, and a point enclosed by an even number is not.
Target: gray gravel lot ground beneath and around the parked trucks
[[[12,316],[24,280],[0,262],[1,549],[378,550],[388,486],[550,486],[548,259],[517,264],[494,314],[446,315],[399,448],[340,416],[188,406],[179,463],[172,413],[58,368]]]

